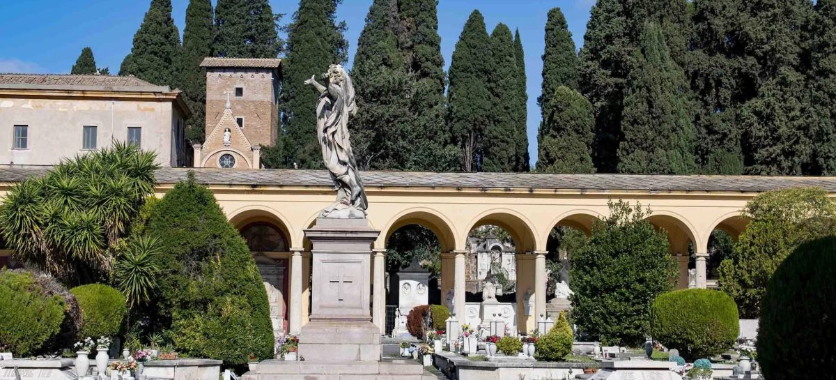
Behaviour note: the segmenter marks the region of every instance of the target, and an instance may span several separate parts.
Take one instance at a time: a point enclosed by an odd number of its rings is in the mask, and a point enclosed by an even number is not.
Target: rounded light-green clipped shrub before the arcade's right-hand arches
[[[651,313],[653,337],[686,360],[726,352],[740,331],[734,299],[717,290],[670,291],[656,297]]]

